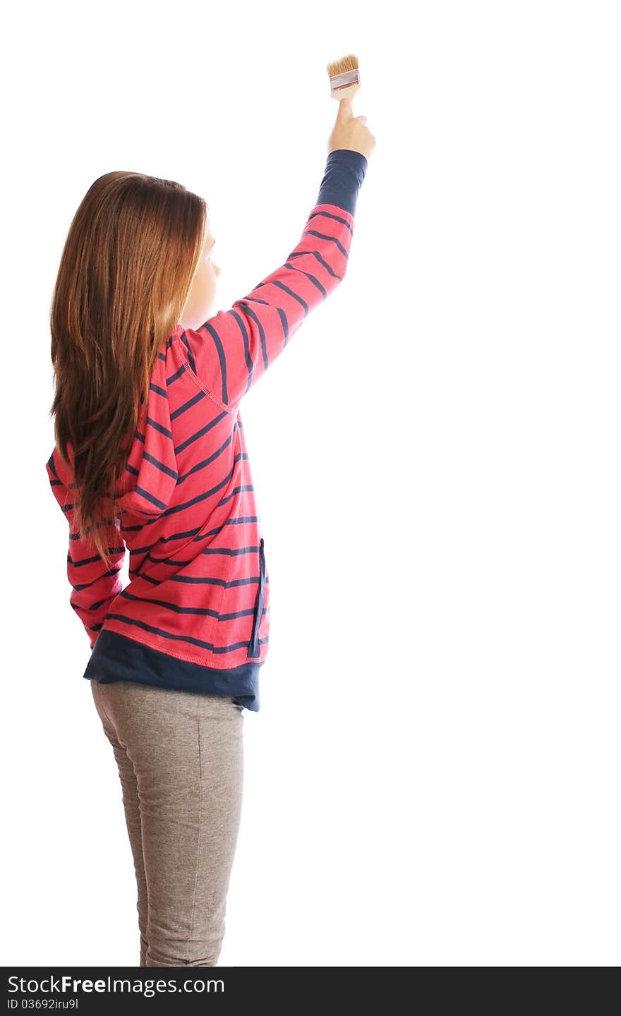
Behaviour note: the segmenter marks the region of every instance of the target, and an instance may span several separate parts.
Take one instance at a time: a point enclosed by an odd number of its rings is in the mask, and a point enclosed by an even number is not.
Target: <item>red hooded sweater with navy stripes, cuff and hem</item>
[[[196,330],[178,325],[164,343],[119,489],[110,570],[74,532],[73,477],[52,452],[46,467],[69,523],[70,604],[92,649],[84,678],[232,695],[258,711],[269,574],[240,401],[341,281],[366,169],[360,152],[330,152],[285,264],[231,310]]]

